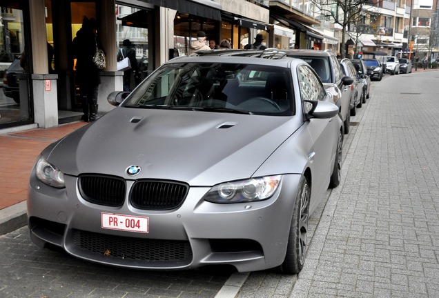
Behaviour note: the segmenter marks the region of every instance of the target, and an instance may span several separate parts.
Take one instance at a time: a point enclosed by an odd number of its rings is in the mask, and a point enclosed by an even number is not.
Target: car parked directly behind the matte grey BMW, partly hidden
[[[340,115],[344,123],[344,133],[349,132],[351,125],[351,84],[353,79],[344,75],[342,67],[332,50],[283,50],[288,57],[297,57],[307,63],[317,72],[326,91],[340,98],[337,101]]]

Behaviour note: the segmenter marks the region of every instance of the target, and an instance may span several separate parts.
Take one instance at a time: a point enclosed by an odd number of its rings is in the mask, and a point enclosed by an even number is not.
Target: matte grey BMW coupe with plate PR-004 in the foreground
[[[124,268],[299,272],[309,217],[342,163],[342,120],[314,70],[179,57],[125,95],[38,157],[32,241]]]

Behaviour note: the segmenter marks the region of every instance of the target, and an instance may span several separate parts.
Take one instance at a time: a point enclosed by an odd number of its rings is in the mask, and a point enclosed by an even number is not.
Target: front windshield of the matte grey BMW
[[[286,68],[236,63],[170,63],[139,86],[123,106],[293,115]]]

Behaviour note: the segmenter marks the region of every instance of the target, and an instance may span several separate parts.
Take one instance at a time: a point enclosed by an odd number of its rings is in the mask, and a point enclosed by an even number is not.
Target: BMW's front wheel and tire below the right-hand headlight
[[[309,186],[306,178],[302,176],[295,197],[293,217],[286,244],[286,255],[284,262],[280,265],[280,272],[284,274],[295,275],[303,268],[308,237],[310,197],[311,186]]]

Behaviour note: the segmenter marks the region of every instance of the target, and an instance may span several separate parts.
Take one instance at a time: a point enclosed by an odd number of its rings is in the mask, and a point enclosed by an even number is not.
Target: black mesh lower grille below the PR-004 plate
[[[74,230],[73,243],[82,250],[119,259],[182,266],[190,264],[193,258],[188,241],[118,237]]]

